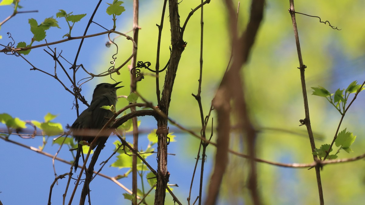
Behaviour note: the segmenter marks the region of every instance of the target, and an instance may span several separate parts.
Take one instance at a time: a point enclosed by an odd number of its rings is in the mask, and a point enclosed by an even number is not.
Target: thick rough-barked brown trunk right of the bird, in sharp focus
[[[169,16],[171,27],[171,59],[166,71],[164,90],[161,96],[160,110],[166,115],[169,114],[171,93],[176,77],[177,67],[184,51],[186,43],[183,41],[180,31],[180,17],[178,14],[178,1],[169,0]],[[165,203],[166,186],[169,180],[167,171],[167,119],[160,117],[157,120],[158,143],[157,143],[157,186],[155,194],[155,205]],[[161,132],[159,130],[162,130]]]

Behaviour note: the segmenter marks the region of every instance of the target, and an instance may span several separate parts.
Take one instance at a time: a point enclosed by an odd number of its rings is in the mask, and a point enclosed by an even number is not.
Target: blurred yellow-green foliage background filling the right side
[[[235,5],[237,2],[235,1]],[[184,0],[179,4],[181,25],[191,8],[195,8],[198,4],[193,0]],[[160,24],[162,1],[154,1],[149,7],[153,7],[149,8],[149,12],[140,13],[139,26],[142,29],[138,37],[137,60],[149,61],[152,64],[150,68],[154,68],[158,35],[155,24]],[[143,8],[142,4],[141,10]],[[334,30],[328,24],[320,23],[318,18],[296,14],[301,52],[304,64],[307,65],[307,88],[319,85],[342,87],[343,84],[348,85],[354,80],[360,82],[364,80],[359,79],[363,70],[358,69],[355,63],[346,64],[345,67],[339,66],[344,62],[357,62],[364,56],[365,27],[361,26],[361,22],[364,22],[365,15],[362,8],[364,8],[363,1],[295,2],[297,12],[320,16],[322,21],[328,20],[331,25],[342,29]],[[306,128],[298,126],[299,119],[304,119],[304,107],[299,69],[297,69],[299,62],[288,9],[289,1],[266,2],[264,21],[250,53],[249,63],[242,70],[242,77],[246,89],[245,96],[249,100],[251,119],[258,130],[258,158],[274,162],[309,163],[313,160],[310,142],[308,137],[302,136],[306,133]],[[249,5],[241,2],[238,25],[242,31],[249,11]],[[166,12],[168,13],[168,8]],[[131,23],[123,23],[121,27],[119,29],[122,31],[129,30]],[[132,36],[132,34],[129,35]],[[196,94],[199,79],[200,11],[189,20],[183,39],[188,44],[176,73],[169,115],[180,124],[196,129],[199,133],[199,107],[191,94]],[[130,42],[118,38],[116,43],[119,48],[123,48],[119,49],[118,59],[127,58],[132,50]],[[169,46],[169,20],[165,16],[160,69],[169,59]],[[206,115],[230,56],[230,34],[226,8],[222,1],[211,1],[204,6],[203,46],[201,97],[204,115]],[[111,47],[110,52],[105,54],[105,62],[101,62],[97,68],[109,67],[108,60],[114,53],[115,48]],[[153,73],[147,70],[142,72],[145,73],[145,79],[138,82],[137,91],[156,105],[155,78],[146,75]],[[125,71],[123,75],[118,76],[118,80],[128,85],[130,79],[127,73],[128,71]],[[164,76],[165,72],[160,73],[161,92]],[[120,89],[119,92],[128,93],[128,86]],[[325,100],[310,95],[309,89],[307,92],[312,128],[317,135],[324,136],[316,139],[316,146],[319,148],[321,144],[328,144],[333,140],[341,116]],[[127,104],[126,100],[119,100],[117,107]],[[365,144],[361,137],[365,134],[361,125],[361,121],[364,121],[361,102],[356,100],[350,110],[354,111],[346,114],[342,125],[359,137],[351,146],[354,152],[340,157],[354,157],[362,154],[362,147]],[[143,127],[143,122],[141,126]],[[279,131],[269,128],[276,128]],[[183,154],[177,157],[181,160],[190,160],[193,166],[199,141],[193,137],[184,137],[184,140],[179,140],[178,143],[181,143],[180,153]],[[238,133],[231,135],[231,148],[245,151],[245,143]],[[210,150],[213,153],[208,154],[208,160],[213,160],[215,148],[210,146]],[[365,201],[364,168],[362,160],[325,166],[321,176],[326,204],[362,204]],[[205,174],[209,174],[207,170]],[[246,160],[230,155],[230,164],[223,181],[221,197],[233,204],[240,201],[252,204],[246,186],[247,173]],[[189,176],[185,177],[189,178]],[[258,187],[265,204],[318,204],[314,169],[281,168],[258,163]],[[175,189],[175,192],[178,191]]]

